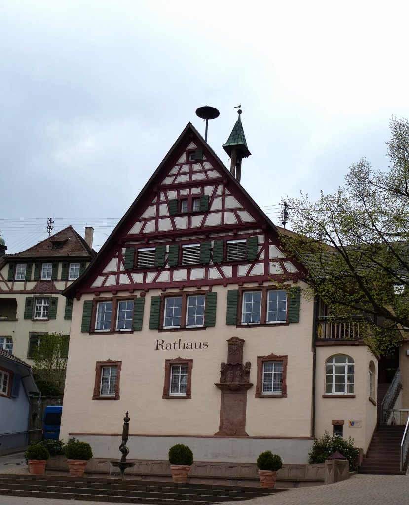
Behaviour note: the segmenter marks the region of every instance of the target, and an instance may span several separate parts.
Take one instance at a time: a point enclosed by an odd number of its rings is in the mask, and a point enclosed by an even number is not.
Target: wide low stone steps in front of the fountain
[[[282,489],[178,484],[142,480],[50,475],[0,475],[0,494],[99,502],[200,505],[266,496]]]

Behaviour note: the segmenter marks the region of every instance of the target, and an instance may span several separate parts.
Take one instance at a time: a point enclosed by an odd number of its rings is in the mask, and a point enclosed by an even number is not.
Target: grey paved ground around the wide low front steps
[[[28,474],[22,453],[0,457],[0,474]],[[96,505],[107,502],[0,495],[0,505]],[[327,486],[290,489],[272,496],[224,505],[408,505],[409,476],[354,475]],[[116,505],[129,505],[117,503]]]

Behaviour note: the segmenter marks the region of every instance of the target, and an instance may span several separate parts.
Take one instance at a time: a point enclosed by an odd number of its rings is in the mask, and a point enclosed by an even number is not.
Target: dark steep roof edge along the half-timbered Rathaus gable
[[[94,272],[98,268],[99,258],[103,258],[106,255],[106,252],[109,251],[115,242],[122,242],[124,237],[128,236],[129,226],[127,227],[127,223],[129,221],[130,216],[132,216],[139,205],[143,203],[143,201],[155,192],[155,189],[158,185],[163,182],[164,170],[169,166],[169,164],[176,163],[178,151],[181,148],[181,145],[186,143],[187,141],[191,141],[192,139],[196,139],[199,144],[211,155],[214,160],[218,164],[218,170],[222,171],[223,177],[228,180],[229,184],[235,186],[236,189],[243,195],[243,197],[247,200],[249,206],[252,207],[255,214],[260,216],[260,219],[266,223],[270,229],[273,229],[277,232],[276,226],[270,221],[270,219],[266,216],[266,214],[260,209],[260,207],[255,203],[255,201],[251,198],[251,196],[243,189],[237,179],[230,173],[230,171],[225,167],[223,162],[218,158],[215,154],[211,146],[205,141],[205,139],[200,135],[200,133],[194,128],[191,123],[188,123],[182,133],[179,135],[168,154],[162,160],[159,167],[155,170],[155,172],[151,175],[149,180],[146,182],[143,189],[140,191],[138,196],[133,201],[132,205],[129,207],[123,218],[119,221],[118,225],[115,227],[111,235],[108,237],[104,245],[100,248],[95,258],[91,261],[85,273],[81,276],[81,278],[75,280],[67,289],[63,292],[63,294],[69,298],[73,298],[75,296],[75,292],[80,288],[82,284],[85,284],[87,279],[94,274]],[[129,223],[128,223],[129,225]]]

